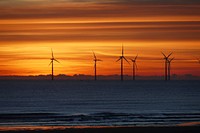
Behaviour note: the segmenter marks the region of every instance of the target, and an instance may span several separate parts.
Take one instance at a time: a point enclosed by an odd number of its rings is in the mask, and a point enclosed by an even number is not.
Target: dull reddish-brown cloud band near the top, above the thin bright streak
[[[31,1],[30,1],[31,2]],[[87,1],[88,2],[88,1]],[[98,1],[96,1],[98,2]],[[56,19],[56,18],[134,18],[152,16],[199,16],[200,5],[135,5],[112,3],[84,3],[46,1],[0,3],[0,19]],[[21,4],[20,4],[21,3]],[[82,2],[81,2],[82,3]],[[134,3],[134,2],[133,2]]]

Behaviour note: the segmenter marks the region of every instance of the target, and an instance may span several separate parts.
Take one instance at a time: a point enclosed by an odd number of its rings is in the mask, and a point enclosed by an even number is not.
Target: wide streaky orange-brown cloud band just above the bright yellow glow
[[[0,41],[199,41],[200,22],[5,24]]]

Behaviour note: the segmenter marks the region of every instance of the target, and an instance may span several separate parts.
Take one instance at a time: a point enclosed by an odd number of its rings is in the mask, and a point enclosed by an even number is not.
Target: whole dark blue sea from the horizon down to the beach
[[[0,81],[0,126],[176,126],[188,122],[200,122],[199,81]]]

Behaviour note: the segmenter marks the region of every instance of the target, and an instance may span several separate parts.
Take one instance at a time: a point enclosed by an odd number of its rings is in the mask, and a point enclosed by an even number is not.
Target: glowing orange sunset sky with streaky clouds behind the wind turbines
[[[74,0],[75,1],[75,0]],[[1,0],[0,75],[120,74],[116,62],[138,57],[138,75],[163,75],[161,51],[172,74],[200,76],[200,2],[197,0]],[[131,65],[125,63],[125,74]]]

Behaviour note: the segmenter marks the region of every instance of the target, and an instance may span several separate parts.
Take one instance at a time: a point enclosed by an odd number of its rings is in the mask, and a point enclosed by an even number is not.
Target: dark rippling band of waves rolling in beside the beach
[[[200,113],[0,114],[0,125],[175,125],[200,121]]]

